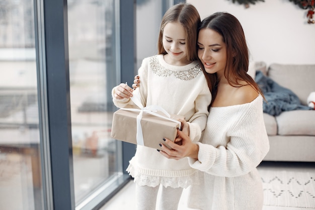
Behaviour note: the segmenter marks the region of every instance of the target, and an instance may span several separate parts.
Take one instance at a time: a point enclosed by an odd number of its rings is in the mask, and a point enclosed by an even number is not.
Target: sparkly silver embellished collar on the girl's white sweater
[[[186,71],[173,72],[167,69],[166,67],[162,66],[159,63],[159,60],[157,60],[157,56],[150,57],[149,65],[150,68],[152,69],[152,72],[155,75],[160,77],[169,77],[173,74],[174,77],[176,77],[179,80],[192,80],[196,78],[200,74],[200,72],[202,72],[199,64],[195,65],[194,67]]]

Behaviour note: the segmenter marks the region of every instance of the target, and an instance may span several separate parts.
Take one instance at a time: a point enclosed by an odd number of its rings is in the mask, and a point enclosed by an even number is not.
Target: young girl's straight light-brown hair
[[[163,16],[159,40],[157,42],[157,48],[159,54],[167,54],[163,47],[163,30],[166,24],[178,22],[182,24],[186,31],[186,48],[187,48],[187,60],[196,60],[198,55],[196,52],[197,44],[197,29],[200,24],[200,16],[197,9],[191,4],[180,3],[171,7]]]

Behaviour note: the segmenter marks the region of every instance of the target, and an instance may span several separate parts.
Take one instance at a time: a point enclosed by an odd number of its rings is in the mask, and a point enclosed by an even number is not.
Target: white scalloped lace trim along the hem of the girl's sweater
[[[198,184],[198,177],[197,177],[197,171],[195,171],[193,174],[189,176],[183,176],[183,177],[164,177],[164,176],[152,176],[152,175],[146,175],[138,173],[138,170],[136,170],[132,165],[129,165],[126,171],[129,173],[130,176],[134,178],[134,182],[136,182],[140,186],[149,186],[149,187],[155,187],[158,185],[163,185],[165,187],[183,187],[187,188],[191,186],[192,184]]]

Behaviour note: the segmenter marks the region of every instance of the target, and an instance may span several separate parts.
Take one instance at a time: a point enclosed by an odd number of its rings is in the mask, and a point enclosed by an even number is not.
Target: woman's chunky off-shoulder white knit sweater
[[[200,183],[189,206],[202,210],[261,210],[262,180],[256,167],[269,151],[262,96],[242,105],[211,107],[198,160]]]

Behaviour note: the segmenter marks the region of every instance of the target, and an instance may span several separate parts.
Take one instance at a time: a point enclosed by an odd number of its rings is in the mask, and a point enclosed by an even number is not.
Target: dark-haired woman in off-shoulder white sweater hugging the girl
[[[198,57],[213,98],[203,137],[193,143],[178,131],[182,145],[166,139],[173,150],[162,145],[160,154],[176,160],[189,157],[198,170],[200,184],[191,187],[189,207],[261,210],[263,188],[256,167],[269,151],[269,141],[263,94],[247,74],[249,52],[238,19],[228,13],[204,19]]]

